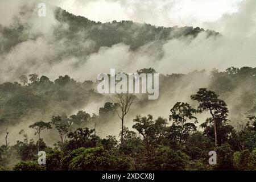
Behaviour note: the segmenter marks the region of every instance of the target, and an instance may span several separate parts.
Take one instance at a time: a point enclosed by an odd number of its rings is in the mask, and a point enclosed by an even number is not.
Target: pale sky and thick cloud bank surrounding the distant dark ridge
[[[35,16],[19,17],[20,5],[31,2],[32,7],[35,5]],[[38,18],[36,15],[36,5],[39,2],[47,3],[46,18]],[[100,49],[86,59],[84,56],[64,57],[52,65],[49,58],[62,55],[69,48],[69,44],[65,45],[63,41],[52,42],[54,27],[59,24],[53,13],[54,6],[48,6],[48,3],[100,22],[133,20],[164,27],[199,26],[219,31],[223,36],[208,39],[200,34],[192,42],[170,40],[161,47],[163,56],[160,60],[150,54],[147,45],[137,52],[131,52],[128,45],[115,44]],[[52,79],[65,73],[82,81],[95,79],[98,73],[109,72],[110,68],[133,73],[147,66],[170,74],[188,73],[195,69],[211,71],[217,68],[224,71],[232,66],[256,66],[255,0],[0,0],[1,26],[11,26],[17,15],[20,22],[30,24],[30,28],[26,30],[27,35],[42,36],[19,43],[10,52],[0,55],[0,77],[4,81],[13,80],[9,75],[16,78],[35,72]],[[80,34],[75,40],[84,40],[79,36]],[[89,49],[90,43],[89,40],[78,41],[72,46],[79,50],[81,47]],[[133,64],[130,64],[130,60]],[[77,63],[80,63],[79,69],[76,67]]]

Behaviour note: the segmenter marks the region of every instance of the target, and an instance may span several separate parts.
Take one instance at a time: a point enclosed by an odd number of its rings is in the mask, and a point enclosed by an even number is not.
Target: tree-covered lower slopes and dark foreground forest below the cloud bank
[[[155,71],[151,68],[138,72]],[[131,128],[124,126],[123,140],[112,133],[102,135],[100,132],[115,123],[115,130],[121,134],[121,122],[115,112],[119,107],[117,103],[106,102],[98,114],[79,109],[86,103],[108,97],[95,92],[93,81],[77,82],[67,75],[51,81],[46,76],[33,74],[20,77],[19,82],[3,83],[0,86],[1,133],[6,143],[1,146],[0,165],[3,169],[14,167],[16,170],[255,169],[255,68],[228,68],[225,72],[215,70],[210,76],[204,71],[188,75],[161,75],[160,85],[164,86],[160,87],[159,95],[165,100],[168,95],[175,97],[175,87],[181,84],[180,87],[185,88],[189,82],[187,78],[191,77],[210,77],[208,88],[197,88],[191,92],[191,99],[195,100],[192,106],[180,100],[170,103],[169,108],[162,108],[169,111],[169,118],[162,115],[153,117],[151,113],[141,115],[143,106],[152,103],[146,97],[135,98],[131,107],[137,108],[137,112],[132,111],[137,116],[133,121],[125,120],[125,125],[130,122],[133,125]],[[237,96],[237,89],[241,86],[241,98],[233,97]],[[222,108],[220,113],[217,109],[216,114],[225,118],[217,125],[215,141],[212,117],[204,118],[204,121],[196,117],[198,113],[208,113],[207,109],[200,108],[197,101],[200,104],[203,97],[210,100],[212,94],[216,97],[212,98],[212,102],[217,99],[215,105]],[[239,121],[237,123],[229,117],[232,107],[225,103],[225,98],[229,97],[237,100],[237,104],[232,106],[236,114],[231,117]],[[241,99],[246,102],[238,101]],[[76,114],[71,114],[73,110],[77,111]],[[34,123],[28,123],[28,118]],[[22,127],[18,125],[20,131],[9,133],[17,123],[22,123]],[[28,126],[30,129],[27,129]],[[39,138],[32,139],[33,131]],[[98,137],[98,132],[107,137]],[[16,144],[9,143],[11,135],[17,139]],[[51,136],[51,140],[54,138],[55,145],[48,146],[44,139],[47,137],[42,136]],[[36,163],[39,150],[47,151],[46,167]],[[217,166],[208,165],[208,152],[211,150],[219,154]],[[101,158],[97,159],[99,154]]]

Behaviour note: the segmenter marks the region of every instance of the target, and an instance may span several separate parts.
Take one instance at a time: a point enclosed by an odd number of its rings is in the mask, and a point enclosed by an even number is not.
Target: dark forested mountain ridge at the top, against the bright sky
[[[220,35],[219,32],[204,30],[200,27],[157,27],[148,23],[137,23],[131,20],[121,20],[117,22],[94,22],[84,16],[77,16],[57,7],[55,18],[61,23],[69,25],[67,38],[72,38],[72,32],[85,30],[89,34],[88,38],[97,43],[99,47],[110,47],[114,44],[124,43],[132,50],[154,41],[166,41],[183,36],[196,36],[200,32],[206,32],[207,37]]]

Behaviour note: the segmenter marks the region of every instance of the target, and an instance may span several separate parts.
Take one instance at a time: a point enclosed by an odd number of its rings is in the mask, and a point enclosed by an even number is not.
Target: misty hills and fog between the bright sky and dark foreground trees
[[[220,94],[230,109],[230,120],[241,121],[246,113],[255,113],[255,69],[241,69],[238,78],[222,72],[213,76],[209,71],[255,67],[253,3],[246,1],[237,13],[224,15],[218,21],[226,28],[223,34],[199,27],[93,22],[53,6],[47,6],[47,16],[39,18],[35,3],[22,3],[9,23],[0,22],[0,81],[19,81],[20,76],[31,73],[45,75],[52,81],[60,75],[69,75],[74,80],[48,87],[2,84],[1,133],[9,127],[10,133],[18,134],[30,123],[49,121],[51,115],[69,116],[79,110],[98,114],[98,109],[110,98],[90,90],[93,87],[84,81],[95,81],[98,73],[108,73],[110,68],[134,73],[152,67],[164,74],[160,77],[159,100],[150,102],[142,96],[127,115],[126,126],[132,125],[137,114],[168,118],[177,101],[191,102],[189,96],[202,87]],[[240,27],[244,16],[250,22],[245,29]],[[203,122],[207,115],[199,118]],[[99,129],[101,135],[118,135],[116,116],[102,123],[105,125]],[[32,133],[29,129],[27,132]],[[17,138],[13,135],[10,140],[15,142]],[[51,138],[49,131],[45,139]]]

